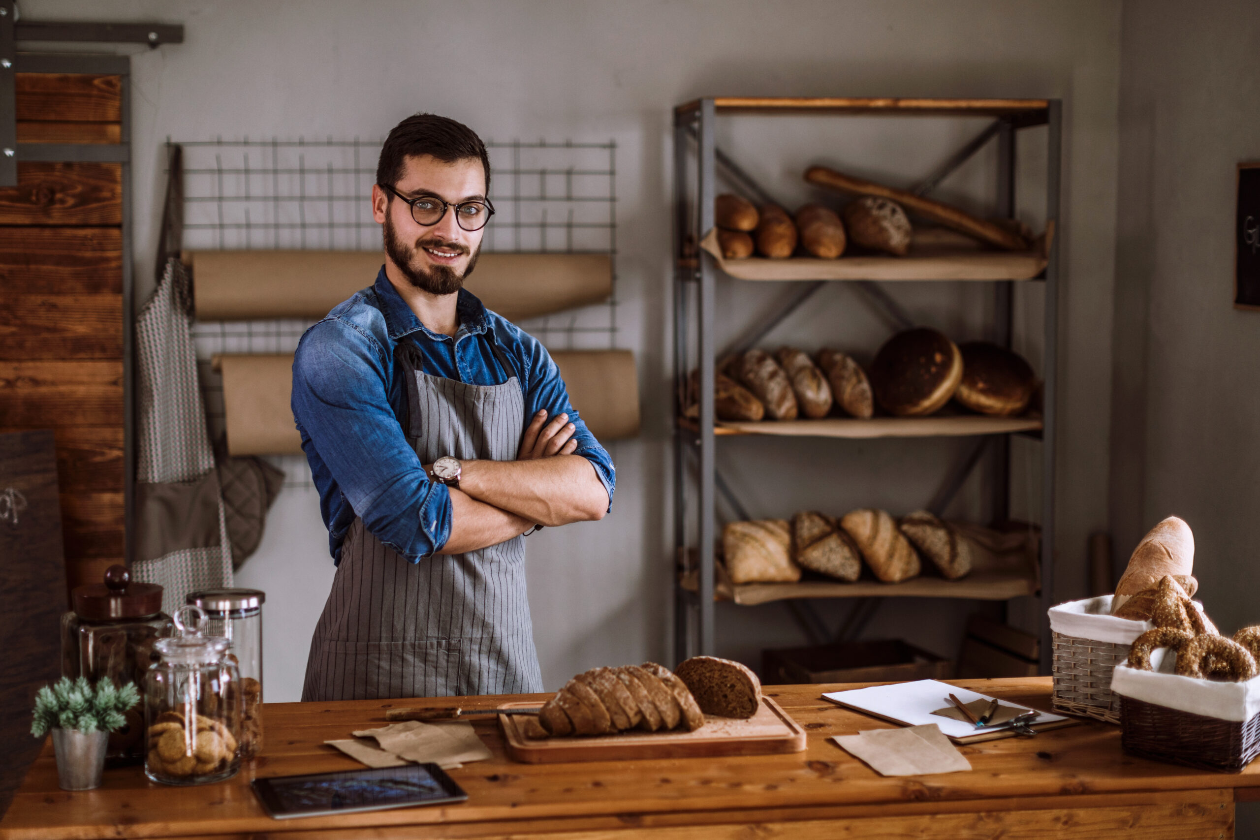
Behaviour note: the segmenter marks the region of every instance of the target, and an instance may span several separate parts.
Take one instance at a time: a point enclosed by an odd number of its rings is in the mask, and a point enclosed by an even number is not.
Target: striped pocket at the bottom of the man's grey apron
[[[386,700],[457,694],[464,640],[343,642],[315,639],[302,700]]]

